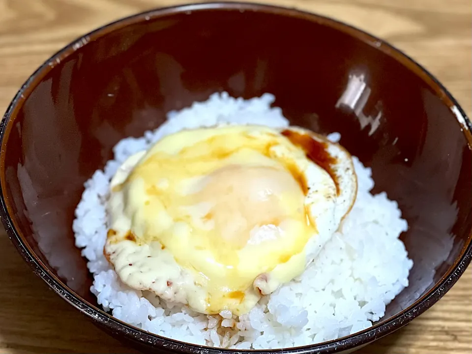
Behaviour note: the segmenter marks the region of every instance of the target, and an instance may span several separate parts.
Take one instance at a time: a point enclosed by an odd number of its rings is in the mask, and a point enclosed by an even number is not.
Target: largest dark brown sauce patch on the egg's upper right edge
[[[300,134],[293,130],[286,129],[283,130],[281,134],[289,139],[292,144],[302,148],[303,151],[305,151],[307,158],[309,158],[328,173],[328,175],[334,181],[334,184],[336,185],[336,193],[339,195],[339,181],[332,168],[332,166],[336,164],[336,158],[328,153],[328,145],[326,143],[316,141],[307,134]]]

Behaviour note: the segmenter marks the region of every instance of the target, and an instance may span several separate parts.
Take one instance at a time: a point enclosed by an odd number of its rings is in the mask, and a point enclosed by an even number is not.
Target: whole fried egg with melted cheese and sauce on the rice
[[[118,169],[104,253],[133,289],[241,315],[304,271],[356,190],[351,155],[311,131],[183,130]]]

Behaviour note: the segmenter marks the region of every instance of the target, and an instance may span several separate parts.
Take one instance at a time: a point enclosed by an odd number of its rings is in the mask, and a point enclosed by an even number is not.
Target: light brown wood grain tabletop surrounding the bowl
[[[471,117],[470,0],[269,1],[337,18],[396,45],[436,75]],[[44,60],[71,40],[120,17],[175,3],[0,0],[0,110]],[[0,260],[0,354],[135,353],[53,294],[1,227]],[[360,352],[471,354],[472,268],[424,315]]]

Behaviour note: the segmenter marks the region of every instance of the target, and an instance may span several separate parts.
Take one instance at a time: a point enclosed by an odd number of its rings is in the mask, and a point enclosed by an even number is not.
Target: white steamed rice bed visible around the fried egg
[[[126,138],[114,148],[115,159],[85,183],[73,230],[77,247],[89,260],[91,287],[98,303],[117,319],[149,332],[188,343],[236,349],[275,349],[320,343],[358,332],[384,316],[387,305],[408,286],[413,262],[398,236],[408,228],[397,203],[385,193],[370,194],[371,170],[354,158],[357,199],[317,260],[297,279],[261,299],[247,315],[224,311],[207,316],[180,304],[123,285],[108,264],[103,247],[109,181],[130,154],[167,134],[218,122],[288,126],[274,97],[243,100],[227,93],[194,103],[142,138]],[[339,140],[338,133],[328,136]]]

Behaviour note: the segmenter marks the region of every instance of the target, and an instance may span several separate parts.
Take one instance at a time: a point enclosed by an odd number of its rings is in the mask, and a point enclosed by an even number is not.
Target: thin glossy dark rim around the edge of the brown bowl
[[[134,340],[141,342],[142,345],[155,345],[160,349],[170,352],[177,353],[206,353],[206,354],[223,354],[223,353],[256,353],[256,354],[267,354],[277,352],[281,354],[328,354],[344,350],[353,350],[354,348],[367,345],[374,340],[377,340],[396,329],[410,323],[414,318],[422,314],[434,303],[436,303],[459,279],[464,273],[467,266],[472,260],[472,234],[469,233],[467,248],[462,251],[462,254],[456,258],[454,264],[449,267],[445,276],[425,295],[418,298],[413,302],[412,305],[402,310],[400,313],[391,317],[388,320],[374,324],[372,327],[367,328],[363,331],[354,333],[352,335],[342,337],[336,340],[323,342],[315,345],[308,345],[303,347],[295,348],[284,348],[276,350],[234,350],[234,349],[218,349],[207,346],[200,346],[189,344],[186,342],[180,342],[177,340],[161,337],[155,334],[151,334],[147,331],[126,324],[112,317],[110,314],[104,312],[102,309],[90,304],[81,296],[77,295],[68,286],[66,286],[59,278],[54,275],[47,267],[39,260],[32,249],[29,247],[27,242],[24,242],[17,231],[15,226],[16,222],[14,218],[10,216],[8,211],[5,196],[3,194],[3,188],[5,185],[4,175],[4,158],[6,151],[6,144],[4,138],[8,138],[9,131],[12,127],[12,122],[16,117],[16,113],[22,107],[26,98],[29,96],[31,91],[41,82],[44,76],[47,75],[61,60],[67,58],[72,53],[80,50],[81,47],[87,45],[90,41],[97,40],[106,34],[125,28],[129,25],[133,25],[140,22],[146,22],[151,19],[156,19],[162,16],[194,12],[194,11],[205,11],[205,10],[220,10],[220,11],[253,11],[253,12],[264,12],[276,15],[282,15],[285,17],[295,17],[298,20],[305,19],[311,22],[320,23],[324,26],[332,29],[342,31],[347,35],[350,35],[355,40],[368,43],[378,50],[382,51],[385,55],[388,55],[401,63],[406,70],[411,70],[416,76],[419,76],[428,86],[438,95],[442,101],[447,105],[449,101],[449,108],[452,113],[457,117],[458,123],[463,128],[463,134],[468,141],[469,148],[472,146],[472,123],[467,118],[464,110],[454,99],[454,97],[445,89],[442,84],[425,68],[418,64],[415,60],[410,58],[408,55],[398,50],[394,46],[384,42],[376,36],[373,36],[361,29],[357,29],[351,25],[345,24],[341,21],[332,19],[330,17],[322,16],[306,10],[298,10],[295,8],[289,8],[279,5],[269,5],[254,2],[202,2],[192,4],[180,4],[162,8],[151,9],[141,13],[137,13],[128,17],[118,19],[117,21],[106,24],[102,27],[94,29],[89,33],[79,37],[70,44],[60,49],[51,58],[46,60],[33,74],[26,80],[22,85],[21,89],[17,92],[11,103],[9,104],[1,122],[0,122],[0,169],[1,169],[1,185],[0,185],[0,218],[3,226],[6,230],[12,243],[17,248],[23,259],[29,264],[33,272],[40,276],[58,295],[64,300],[69,302],[71,305],[76,307],[82,313],[89,316],[94,322],[107,327],[115,334],[119,334],[128,340]],[[13,117],[13,119],[12,119]],[[10,124],[9,124],[10,123]],[[459,127],[458,127],[459,129]],[[472,148],[471,148],[472,149]]]

